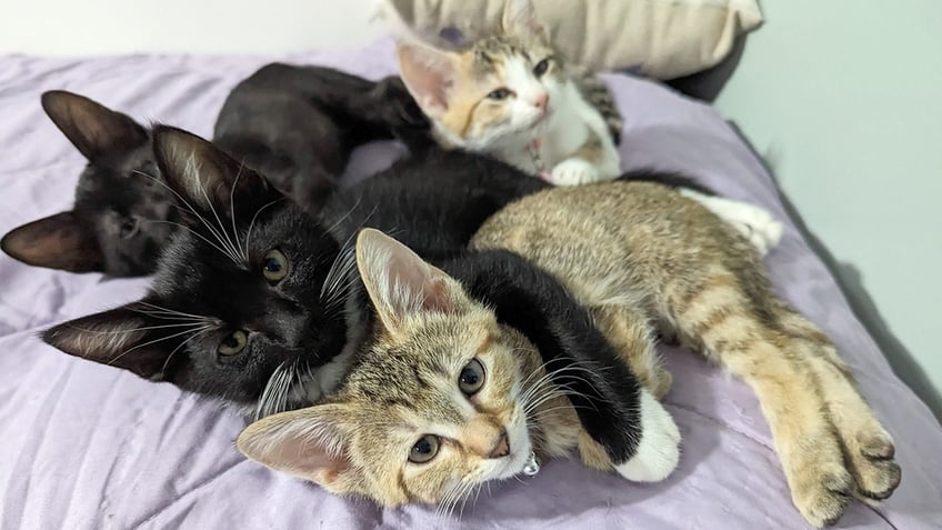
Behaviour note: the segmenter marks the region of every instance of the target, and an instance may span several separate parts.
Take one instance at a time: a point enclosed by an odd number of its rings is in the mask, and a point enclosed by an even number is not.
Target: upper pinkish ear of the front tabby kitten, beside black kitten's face
[[[373,229],[357,237],[357,268],[383,326],[393,336],[422,312],[451,313],[467,294],[451,277],[409,247]]]

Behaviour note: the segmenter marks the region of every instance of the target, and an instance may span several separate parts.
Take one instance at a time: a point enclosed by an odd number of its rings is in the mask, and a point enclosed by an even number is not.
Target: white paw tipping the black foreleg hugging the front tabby
[[[634,457],[615,471],[635,482],[668,478],[680,461],[680,430],[670,412],[648,390],[641,390],[641,441]]]

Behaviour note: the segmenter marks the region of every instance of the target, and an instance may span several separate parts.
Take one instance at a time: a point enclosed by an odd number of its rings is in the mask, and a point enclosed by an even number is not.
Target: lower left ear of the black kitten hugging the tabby
[[[140,302],[129,303],[49,328],[42,333],[42,340],[70,356],[159,381],[164,379],[163,370],[173,351],[170,342],[161,339],[186,328],[168,328],[168,323],[176,321],[161,320],[153,314],[154,310]]]

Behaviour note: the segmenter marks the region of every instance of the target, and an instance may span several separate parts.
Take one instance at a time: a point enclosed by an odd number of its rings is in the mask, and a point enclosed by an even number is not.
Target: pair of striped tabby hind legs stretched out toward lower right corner
[[[772,301],[772,302],[770,302]],[[778,302],[764,279],[716,270],[667,299],[681,339],[759,397],[792,500],[815,526],[851,494],[885,499],[900,482],[893,443],[820,330]]]

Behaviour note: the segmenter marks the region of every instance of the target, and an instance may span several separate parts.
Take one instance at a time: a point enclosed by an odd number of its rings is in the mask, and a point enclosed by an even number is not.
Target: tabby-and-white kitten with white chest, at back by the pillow
[[[460,52],[399,46],[435,138],[558,186],[618,177],[622,120],[604,83],[563,64],[530,0],[509,1],[502,27]]]

